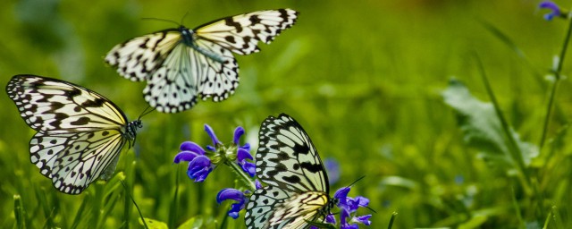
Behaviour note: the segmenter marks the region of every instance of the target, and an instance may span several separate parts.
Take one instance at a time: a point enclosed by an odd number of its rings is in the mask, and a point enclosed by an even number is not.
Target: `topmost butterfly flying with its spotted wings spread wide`
[[[290,28],[298,12],[257,11],[132,38],[111,49],[105,62],[131,81],[147,81],[144,98],[164,113],[187,110],[197,98],[222,101],[239,86],[239,64],[232,55],[257,53]]]

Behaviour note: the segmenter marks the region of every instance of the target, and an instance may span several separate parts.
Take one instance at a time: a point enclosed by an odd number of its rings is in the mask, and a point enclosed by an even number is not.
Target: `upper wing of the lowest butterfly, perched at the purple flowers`
[[[324,165],[306,131],[290,116],[269,117],[262,124],[257,176],[289,191],[329,193]]]

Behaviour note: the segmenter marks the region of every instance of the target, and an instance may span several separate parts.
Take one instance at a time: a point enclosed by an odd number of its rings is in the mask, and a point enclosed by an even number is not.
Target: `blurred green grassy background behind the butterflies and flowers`
[[[565,2],[565,1],[560,1]],[[551,177],[538,205],[518,199],[513,179],[476,157],[463,142],[452,109],[442,102],[451,77],[464,81],[477,98],[489,100],[475,67],[484,62],[501,109],[521,138],[537,143],[550,81],[546,74],[558,54],[567,23],[544,21],[537,1],[57,1],[0,2],[0,85],[14,74],[32,73],[80,84],[110,98],[130,119],[147,106],[144,83],[122,79],[104,56],[122,41],[173,27],[158,18],[193,28],[206,21],[263,9],[292,8],[299,21],[262,52],[239,56],[240,87],[221,103],[201,101],[180,114],[152,113],[142,121],[136,147],[124,149],[117,172],[124,172],[142,214],[171,226],[193,216],[226,214],[215,194],[234,185],[220,166],[205,183],[194,183],[185,165],[172,165],[184,140],[209,144],[208,123],[220,140],[230,142],[237,125],[248,142],[268,115],[290,114],[304,126],[322,158],[341,162],[341,180],[332,190],[358,177],[350,195],[371,200],[377,212],[372,228],[386,227],[396,211],[394,228],[518,227],[542,225],[552,205],[562,224],[572,223],[569,203],[570,153],[563,144],[559,160],[542,174]],[[186,16],[185,16],[186,15]],[[485,29],[501,30],[526,59]],[[569,73],[569,62],[564,74]],[[557,135],[572,114],[569,81],[557,94],[548,137]],[[14,195],[21,196],[31,228],[56,225],[139,227],[138,213],[122,187],[92,184],[69,196],[29,163],[34,131],[21,120],[13,102],[0,97],[0,227],[13,227]],[[570,138],[563,136],[563,142]],[[254,151],[252,152],[254,154]],[[134,162],[133,162],[134,161]],[[179,176],[177,180],[177,176]],[[543,181],[537,181],[543,183]],[[173,199],[176,183],[179,197]],[[116,182],[115,182],[116,184]],[[113,191],[104,199],[105,191]],[[517,193],[517,194],[515,194]],[[333,194],[333,193],[332,193]],[[516,196],[516,197],[515,197]],[[177,203],[177,205],[173,205]],[[82,204],[85,205],[81,208]],[[101,206],[100,206],[101,205]],[[519,209],[514,208],[519,206]],[[90,209],[90,210],[88,210]],[[80,214],[78,214],[80,213]],[[95,215],[94,215],[95,214]],[[243,212],[242,212],[243,214]],[[241,214],[241,216],[243,216]],[[364,211],[364,214],[373,214]],[[519,218],[522,217],[522,218]],[[129,225],[124,225],[125,218]],[[225,222],[242,228],[242,220]],[[533,227],[534,228],[534,227]]]

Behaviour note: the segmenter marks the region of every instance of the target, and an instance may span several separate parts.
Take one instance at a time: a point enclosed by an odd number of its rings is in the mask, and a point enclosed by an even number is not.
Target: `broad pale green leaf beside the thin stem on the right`
[[[449,87],[442,92],[442,97],[445,104],[457,112],[458,124],[468,145],[481,150],[481,156],[489,162],[517,165],[510,157],[509,140],[503,134],[501,121],[495,114],[492,103],[473,97],[467,87],[457,80],[450,80]],[[520,140],[512,128],[510,133],[517,141],[525,165],[530,165],[531,158],[538,156],[538,148],[530,142]]]

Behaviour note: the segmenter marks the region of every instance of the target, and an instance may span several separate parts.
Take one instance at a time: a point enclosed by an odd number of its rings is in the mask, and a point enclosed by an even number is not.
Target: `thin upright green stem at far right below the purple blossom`
[[[566,37],[564,38],[564,43],[562,44],[562,49],[560,49],[558,63],[556,64],[556,69],[552,69],[554,74],[554,82],[552,83],[551,94],[548,100],[548,106],[546,107],[546,116],[544,117],[544,127],[543,135],[541,136],[539,148],[543,148],[544,141],[546,140],[546,132],[548,131],[548,126],[550,124],[550,117],[552,114],[552,106],[554,105],[554,98],[556,97],[556,89],[558,89],[558,84],[560,81],[560,72],[562,71],[562,65],[564,63],[564,57],[566,56],[566,51],[568,50],[568,41],[570,40],[570,34],[572,34],[572,20],[568,20],[568,31]]]

